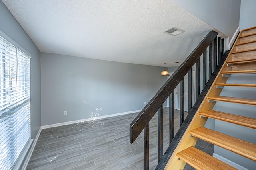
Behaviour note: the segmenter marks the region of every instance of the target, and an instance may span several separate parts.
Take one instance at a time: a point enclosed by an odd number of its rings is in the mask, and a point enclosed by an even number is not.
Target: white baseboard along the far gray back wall
[[[67,121],[67,122],[56,123],[56,124],[52,124],[52,125],[44,125],[44,126],[41,126],[41,127],[42,127],[42,129],[47,129],[47,128],[52,128],[52,127],[70,125],[70,124],[74,124],[74,123],[81,123],[81,122],[85,122],[85,121],[92,121],[92,120],[104,119],[104,118],[108,118],[108,117],[127,115],[127,114],[136,113],[136,112],[140,112],[140,111],[142,111],[142,110],[127,111],[127,112],[116,113],[116,114],[112,114],[112,115],[91,117],[91,118],[88,118],[88,119],[80,119],[80,120],[75,120],[75,121]]]

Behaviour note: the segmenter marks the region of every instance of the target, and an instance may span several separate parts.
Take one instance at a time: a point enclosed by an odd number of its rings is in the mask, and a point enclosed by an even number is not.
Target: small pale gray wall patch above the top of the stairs
[[[240,29],[246,29],[256,26],[256,1],[241,0],[240,10]]]

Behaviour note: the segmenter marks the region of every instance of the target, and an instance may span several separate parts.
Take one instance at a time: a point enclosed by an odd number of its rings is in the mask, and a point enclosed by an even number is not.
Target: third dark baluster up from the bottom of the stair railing
[[[169,96],[169,143],[174,138],[174,92]]]

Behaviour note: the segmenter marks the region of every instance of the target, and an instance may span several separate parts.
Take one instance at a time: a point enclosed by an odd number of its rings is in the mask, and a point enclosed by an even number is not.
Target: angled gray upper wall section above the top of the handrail
[[[239,27],[240,0],[174,0],[230,39]]]

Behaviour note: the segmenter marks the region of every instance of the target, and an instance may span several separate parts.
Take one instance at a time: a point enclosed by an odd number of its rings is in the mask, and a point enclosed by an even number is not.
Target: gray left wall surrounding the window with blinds
[[[2,1],[0,1],[0,11],[0,30],[32,55],[30,60],[31,138],[35,138],[41,126],[40,51]]]

